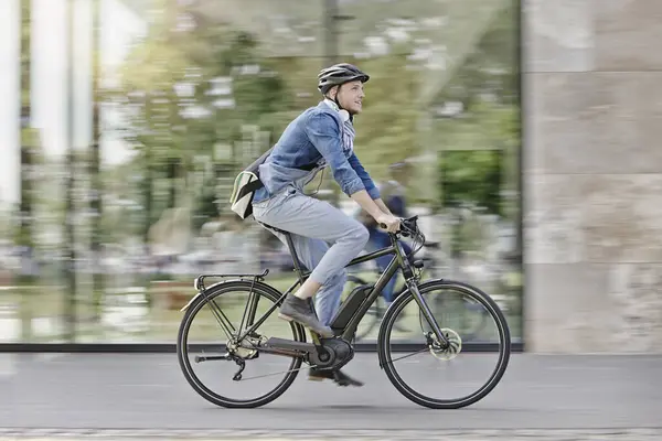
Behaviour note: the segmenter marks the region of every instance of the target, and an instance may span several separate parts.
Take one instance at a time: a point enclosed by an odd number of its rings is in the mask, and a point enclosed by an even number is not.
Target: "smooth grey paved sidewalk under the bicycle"
[[[363,388],[302,374],[279,399],[249,410],[203,400],[174,354],[0,361],[0,439],[662,440],[662,356],[514,354],[496,389],[460,410],[407,400],[376,354],[357,354],[346,368]],[[435,373],[425,380],[433,385]]]

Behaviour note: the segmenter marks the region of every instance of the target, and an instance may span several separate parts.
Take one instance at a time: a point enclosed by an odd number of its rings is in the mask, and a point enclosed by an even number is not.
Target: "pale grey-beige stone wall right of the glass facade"
[[[523,0],[528,351],[662,352],[662,1]]]

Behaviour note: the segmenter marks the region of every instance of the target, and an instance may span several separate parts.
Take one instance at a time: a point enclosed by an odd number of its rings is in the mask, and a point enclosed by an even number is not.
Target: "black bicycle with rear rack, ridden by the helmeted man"
[[[388,380],[404,397],[424,407],[433,409],[458,409],[470,406],[484,398],[499,384],[508,367],[511,353],[511,340],[508,323],[496,303],[478,288],[467,283],[444,279],[420,281],[420,273],[424,267],[423,261],[416,260],[410,262],[405,256],[405,251],[399,243],[401,236],[410,236],[415,239],[412,256],[420,250],[423,244],[425,244],[425,236],[418,229],[417,218],[418,216],[413,216],[402,220],[401,232],[389,234],[392,241],[389,247],[365,256],[356,257],[348,263],[348,267],[350,267],[376,259],[381,256],[395,254],[386,267],[386,270],[381,275],[374,286],[356,288],[341,304],[330,325],[335,334],[331,338],[321,338],[319,335],[309,331],[312,343],[308,343],[306,341],[303,326],[296,322],[280,320],[277,318],[277,314],[274,314],[285,300],[285,297],[292,292],[297,286],[302,283],[306,278],[310,276],[310,271],[301,269],[291,237],[287,232],[270,227],[285,235],[298,276],[297,280],[285,293],[281,293],[264,281],[268,275],[268,269],[265,269],[259,275],[201,275],[195,278],[194,288],[197,290],[197,293],[181,309],[181,311],[184,312],[184,316],[182,318],[179,327],[177,341],[178,361],[188,383],[201,397],[214,405],[226,408],[256,408],[269,404],[281,396],[291,386],[299,370],[302,368],[301,365],[303,363],[308,364],[309,368],[314,367],[317,369],[337,372],[354,357],[353,341],[359,322],[380,297],[386,282],[398,269],[401,269],[405,277],[407,289],[391,304],[382,321],[377,338],[380,367],[384,369]],[[418,241],[420,241],[420,246],[416,248],[416,243]],[[210,287],[205,287],[204,280],[206,278],[229,278],[229,280],[223,280],[211,284]],[[457,358],[462,352],[462,338],[452,329],[446,326],[442,327],[437,323],[437,320],[434,318],[433,312],[428,306],[428,302],[425,299],[425,297],[430,295],[435,290],[440,290],[445,292],[445,294],[446,292],[459,292],[468,295],[476,303],[483,305],[494,320],[495,335],[498,337],[498,359],[494,367],[491,368],[488,379],[484,383],[481,383],[478,388],[471,386],[469,392],[459,392],[459,397],[450,399],[439,399],[424,395],[428,394],[431,389],[433,385],[429,384],[423,386],[425,392],[415,390],[412,385],[421,379],[420,375],[415,376],[412,381],[405,381],[403,379],[403,375],[407,374],[413,367],[423,365],[424,367],[429,368],[430,359],[433,362],[437,359],[448,362],[445,366],[456,377],[465,373],[474,373],[477,367],[484,365],[485,353],[481,353],[478,357],[468,356]],[[225,309],[217,305],[216,299],[223,300],[223,298],[237,292],[248,293],[245,303],[232,303],[226,300]],[[263,299],[269,302],[269,304],[266,306],[266,312],[258,315],[257,308],[259,301]],[[243,312],[236,308],[242,304]],[[253,397],[254,394],[252,394],[252,397],[249,398],[229,398],[226,395],[232,392],[231,389],[233,389],[234,386],[225,387],[222,392],[224,395],[221,395],[207,387],[209,383],[205,385],[201,380],[200,375],[193,372],[193,365],[189,358],[189,334],[194,318],[207,305],[211,310],[211,318],[207,319],[209,322],[205,322],[207,324],[205,330],[209,332],[214,324],[214,321],[217,322],[216,324],[218,327],[212,330],[211,335],[205,334],[207,338],[211,338],[211,343],[191,345],[192,348],[196,347],[203,351],[203,355],[193,357],[195,365],[201,365],[203,362],[210,361],[234,362],[238,367],[238,370],[236,370],[232,377],[234,383],[231,385],[239,385],[248,379],[265,379],[277,375],[284,375],[284,378],[275,387],[257,397]],[[417,306],[419,310],[420,335],[423,336],[424,343],[418,345],[408,344],[408,348],[415,347],[416,349],[408,355],[393,358],[393,352],[397,349],[397,347],[392,347],[391,337],[393,325],[396,322],[398,314],[401,314],[408,305]],[[232,312],[237,313],[237,319],[241,312],[241,323],[238,329],[231,323],[227,316],[227,314]],[[267,332],[273,334],[273,329],[268,325],[263,325],[269,318],[275,318],[275,323],[288,330],[287,334],[289,335],[289,338],[268,336]],[[227,340],[225,344],[221,344],[217,341],[223,334]],[[217,352],[221,355],[206,355],[204,351]],[[397,361],[428,352],[433,355],[433,358],[428,358],[427,362],[424,361],[420,364],[404,364],[402,369],[395,367],[395,362]],[[253,365],[255,361],[263,356],[274,356],[274,361],[289,359],[289,366],[285,370],[267,372],[266,374],[260,372],[258,375],[244,377],[243,373],[248,364],[247,362]],[[453,363],[457,363],[457,365],[450,363],[451,361],[456,361]],[[257,365],[255,366],[259,369]],[[457,370],[455,367],[457,367]],[[218,368],[215,367],[212,370],[212,379],[210,381],[215,381],[220,378],[217,369]],[[455,381],[446,389],[455,390],[459,387],[463,387],[466,384],[467,381]],[[245,387],[241,388],[241,390],[242,394],[246,392]]]

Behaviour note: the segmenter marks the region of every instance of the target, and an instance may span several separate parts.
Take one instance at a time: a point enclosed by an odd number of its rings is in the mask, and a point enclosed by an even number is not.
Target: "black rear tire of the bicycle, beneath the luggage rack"
[[[253,282],[247,280],[232,280],[227,282],[221,282],[207,288],[205,290],[206,295],[200,295],[195,301],[193,301],[189,309],[186,309],[186,312],[180,323],[177,338],[177,355],[180,368],[182,369],[186,381],[189,383],[189,385],[191,385],[193,390],[195,390],[202,398],[216,406],[225,408],[246,409],[267,405],[280,397],[291,386],[293,380],[297,378],[297,375],[299,374],[298,369],[301,367],[302,364],[301,358],[292,358],[292,363],[290,364],[289,368],[290,372],[285,374],[285,378],[282,381],[280,381],[271,391],[264,394],[260,397],[247,400],[229,399],[218,394],[215,394],[214,391],[209,389],[193,373],[191,362],[188,357],[188,349],[184,338],[188,336],[189,329],[191,326],[193,318],[195,316],[195,313],[200,311],[202,306],[204,306],[204,304],[207,303],[207,299],[215,299],[218,295],[223,295],[233,291],[245,292],[249,291],[250,289],[253,289],[254,292],[258,293],[261,297],[265,297],[274,303],[276,303],[278,299],[282,295],[278,290],[264,282]],[[295,322],[290,322],[289,324],[292,329],[292,340],[297,342],[306,342],[306,333],[303,327]]]

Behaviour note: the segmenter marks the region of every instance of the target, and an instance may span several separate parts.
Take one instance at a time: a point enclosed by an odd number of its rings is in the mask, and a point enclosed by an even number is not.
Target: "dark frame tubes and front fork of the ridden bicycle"
[[[389,247],[378,249],[378,250],[370,252],[365,256],[356,257],[356,258],[352,259],[345,266],[345,268],[352,267],[354,265],[374,260],[382,256],[386,256],[386,255],[395,252],[395,256],[391,259],[391,262],[388,263],[388,266],[386,267],[384,272],[380,276],[380,278],[375,282],[375,286],[374,286],[372,292],[370,293],[370,295],[359,305],[359,308],[355,311],[352,312],[352,318],[350,319],[348,325],[342,330],[342,333],[340,334],[340,336],[346,341],[352,340],[353,334],[354,334],[356,327],[359,326],[359,323],[361,322],[361,320],[363,319],[363,316],[365,315],[365,313],[367,312],[370,306],[377,300],[377,298],[382,293],[382,290],[386,287],[386,283],[388,283],[391,278],[393,276],[395,276],[395,272],[397,271],[397,269],[402,268],[403,275],[405,276],[405,283],[407,284],[407,288],[414,294],[414,299],[416,300],[420,310],[423,311],[423,314],[426,318],[428,324],[433,327],[435,335],[437,336],[437,338],[439,338],[439,342],[445,347],[446,345],[448,345],[448,340],[441,333],[441,330],[439,329],[437,321],[433,316],[429,306],[427,305],[425,299],[423,299],[423,295],[420,294],[416,283],[414,282],[414,270],[412,269],[412,265],[410,265],[409,260],[405,256],[405,250],[403,249],[402,245],[399,244],[399,240],[396,237],[396,235],[389,234],[389,237],[391,237],[391,244],[392,244]],[[299,284],[302,284],[308,279],[308,277],[310,277],[310,273],[312,272],[312,271],[308,271],[308,270],[305,271],[301,269],[301,267],[299,265],[299,259],[297,257],[297,254],[296,254],[292,240],[291,240],[291,237],[289,235],[286,235],[286,239],[287,239],[287,245],[288,245],[288,248],[290,249],[290,255],[292,257],[292,261],[295,265],[295,271],[298,275],[298,280],[295,281],[288,288],[288,290],[285,291],[285,293],[282,293],[282,295],[278,299],[278,301],[276,303],[274,303],[274,305],[271,305],[271,308],[269,308],[269,310],[267,312],[265,312],[264,315],[257,322],[254,322],[257,304],[256,304],[256,302],[252,301],[253,297],[250,297],[248,299],[248,303],[246,305],[246,311],[244,312],[244,318],[246,315],[246,312],[248,312],[247,326],[249,326],[249,327],[247,327],[246,331],[244,331],[244,333],[238,336],[237,341],[239,341],[239,342],[242,340],[244,340],[247,335],[252,334],[257,327],[259,327],[269,318],[269,315],[271,315],[274,313],[276,308],[278,308],[282,303],[285,298],[290,292],[292,292]],[[352,295],[356,295],[356,294],[357,293],[352,293]],[[352,295],[350,295],[350,298],[348,298],[345,301],[350,301]],[[244,318],[242,319],[242,325],[239,326],[239,331],[243,327]],[[317,335],[314,333],[311,333],[311,334],[313,335],[313,340],[317,340]]]

